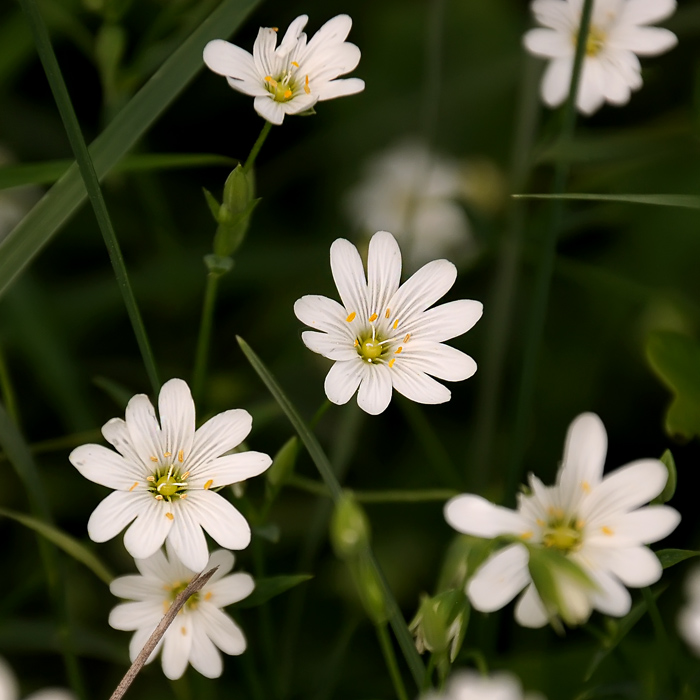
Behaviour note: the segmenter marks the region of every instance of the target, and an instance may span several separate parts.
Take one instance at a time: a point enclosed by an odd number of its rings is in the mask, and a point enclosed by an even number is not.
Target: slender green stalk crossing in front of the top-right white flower
[[[576,125],[576,97],[578,95],[579,79],[583,68],[583,59],[586,54],[586,42],[588,39],[588,28],[593,11],[593,0],[585,0],[581,13],[581,26],[579,27],[576,43],[576,56],[574,58],[573,73],[571,75],[571,86],[569,97],[564,106],[561,138],[564,141],[571,140]],[[554,171],[554,182],[552,191],[554,194],[562,194],[566,189],[566,182],[569,177],[569,163],[559,161]],[[528,418],[532,408],[532,399],[535,391],[535,380],[537,375],[537,360],[542,344],[544,323],[547,316],[547,305],[549,302],[549,290],[552,281],[552,271],[554,269],[554,259],[556,257],[557,235],[561,228],[564,215],[564,202],[556,199],[552,203],[550,210],[549,226],[545,240],[542,243],[542,251],[539,259],[539,266],[535,279],[535,290],[533,293],[532,309],[530,312],[527,336],[525,338],[525,348],[523,352],[523,364],[520,371],[520,381],[518,387],[518,398],[516,404],[515,427],[513,429],[513,440],[511,443],[511,453],[506,472],[505,493],[515,493],[517,484],[521,479],[523,452],[525,447],[525,436],[527,433]]]

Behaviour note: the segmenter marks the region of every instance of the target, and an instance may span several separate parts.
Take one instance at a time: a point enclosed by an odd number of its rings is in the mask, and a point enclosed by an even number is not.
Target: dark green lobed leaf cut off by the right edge
[[[677,440],[700,435],[700,345],[673,331],[647,339],[651,368],[674,395],[666,412],[666,432]]]

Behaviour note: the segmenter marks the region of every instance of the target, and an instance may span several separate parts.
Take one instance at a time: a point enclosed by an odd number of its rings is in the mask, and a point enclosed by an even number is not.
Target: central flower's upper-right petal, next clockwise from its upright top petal
[[[399,330],[444,296],[457,279],[457,268],[448,260],[433,260],[409,277],[389,301]]]

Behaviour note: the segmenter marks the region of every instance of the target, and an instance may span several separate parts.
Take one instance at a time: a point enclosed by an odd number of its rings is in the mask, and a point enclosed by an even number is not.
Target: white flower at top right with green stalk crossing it
[[[556,107],[569,94],[576,38],[583,0],[534,0],[532,11],[545,29],[525,35],[527,49],[550,63],[542,79],[542,99]],[[633,90],[642,86],[637,56],[655,56],[673,48],[676,35],[668,29],[648,27],[666,19],[676,0],[594,0],[586,42],[586,55],[576,98],[584,114],[604,102],[627,104]]]

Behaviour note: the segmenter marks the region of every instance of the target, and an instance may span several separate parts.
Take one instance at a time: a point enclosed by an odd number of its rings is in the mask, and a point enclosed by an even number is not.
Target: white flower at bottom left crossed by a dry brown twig
[[[135,630],[129,644],[133,661],[151,633],[168,611],[178,593],[195,575],[182,564],[170,542],[167,556],[158,550],[148,559],[136,559],[141,575],[121,576],[110,584],[110,591],[129,603],[117,605],[109,614],[109,624],[118,630]],[[204,567],[218,571],[201,591],[190,597],[168,627],[148,663],[162,650],[163,673],[172,680],[180,678],[190,663],[203,676],[218,678],[223,670],[221,649],[225,654],[242,654],[246,648],[241,628],[221,608],[248,597],[255,588],[249,574],[231,574],[233,554],[219,549],[212,552]],[[218,649],[217,649],[218,647]]]

